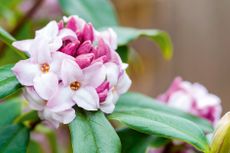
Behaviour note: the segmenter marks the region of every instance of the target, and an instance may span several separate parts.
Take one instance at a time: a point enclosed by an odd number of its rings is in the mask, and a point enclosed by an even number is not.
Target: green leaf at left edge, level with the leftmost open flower
[[[12,65],[0,67],[0,99],[16,92],[22,86],[11,71]]]

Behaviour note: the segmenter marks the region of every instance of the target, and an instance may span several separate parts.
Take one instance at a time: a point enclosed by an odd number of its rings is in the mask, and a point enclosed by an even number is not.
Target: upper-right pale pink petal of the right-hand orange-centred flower
[[[84,85],[96,88],[105,81],[106,72],[102,63],[97,62],[86,67],[83,69],[83,73]]]

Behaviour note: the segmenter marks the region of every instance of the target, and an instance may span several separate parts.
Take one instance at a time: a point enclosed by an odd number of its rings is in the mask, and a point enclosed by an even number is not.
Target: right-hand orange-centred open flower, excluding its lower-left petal
[[[97,110],[99,97],[96,87],[105,80],[104,72],[102,63],[92,64],[82,70],[76,62],[64,60],[60,74],[63,90],[73,96],[73,100],[79,107]]]

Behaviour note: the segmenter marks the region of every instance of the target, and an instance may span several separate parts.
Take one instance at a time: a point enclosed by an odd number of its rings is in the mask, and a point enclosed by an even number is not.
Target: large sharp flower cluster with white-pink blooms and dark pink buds
[[[12,69],[25,86],[25,98],[41,119],[55,127],[75,118],[74,105],[111,113],[131,85],[128,65],[115,51],[116,33],[96,31],[78,16],[51,21],[36,31],[34,39],[13,46],[30,57]]]

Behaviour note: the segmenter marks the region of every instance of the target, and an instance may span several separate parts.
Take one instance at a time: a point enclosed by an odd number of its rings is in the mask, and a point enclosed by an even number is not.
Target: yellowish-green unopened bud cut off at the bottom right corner
[[[219,121],[210,149],[210,153],[230,153],[230,112]]]

